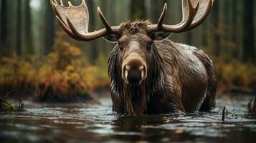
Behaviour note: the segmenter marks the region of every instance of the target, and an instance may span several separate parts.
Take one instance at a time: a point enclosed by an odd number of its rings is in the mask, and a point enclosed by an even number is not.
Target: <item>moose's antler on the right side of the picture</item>
[[[183,0],[182,1],[182,16],[181,23],[176,25],[165,25],[163,21],[167,13],[167,4],[164,4],[163,12],[158,20],[158,24],[149,25],[149,31],[166,31],[180,33],[189,31],[202,24],[206,19],[209,11],[212,9],[214,0]],[[195,6],[196,5],[196,6]],[[195,7],[193,7],[195,6]]]

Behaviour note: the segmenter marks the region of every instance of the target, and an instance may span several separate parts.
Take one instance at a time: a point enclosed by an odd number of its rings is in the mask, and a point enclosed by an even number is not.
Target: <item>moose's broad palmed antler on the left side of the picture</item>
[[[51,0],[51,4],[60,26],[74,39],[90,41],[108,34],[118,34],[119,26],[110,26],[99,7],[98,14],[105,25],[105,29],[93,32],[88,31],[89,12],[85,0],[82,0],[80,6],[73,6],[69,1],[69,6],[66,7],[62,0],[60,0],[60,4],[56,0]]]

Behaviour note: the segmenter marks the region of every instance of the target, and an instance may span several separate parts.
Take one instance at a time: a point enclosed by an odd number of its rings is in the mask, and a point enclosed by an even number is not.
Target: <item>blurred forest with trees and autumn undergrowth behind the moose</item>
[[[71,2],[77,6],[80,1]],[[165,24],[179,23],[180,0],[86,0],[90,31],[103,28],[97,6],[114,26],[128,19],[156,23],[165,2],[169,4]],[[173,34],[171,40],[211,56],[218,94],[234,87],[251,88],[256,84],[255,15],[256,1],[217,0],[201,26]],[[108,87],[107,62],[113,46],[103,39],[71,39],[57,24],[49,0],[0,0],[0,94],[17,89],[44,101]]]

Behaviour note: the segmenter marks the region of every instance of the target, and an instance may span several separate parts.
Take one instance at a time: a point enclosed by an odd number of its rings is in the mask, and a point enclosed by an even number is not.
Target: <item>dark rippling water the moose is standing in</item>
[[[212,113],[141,117],[113,114],[110,96],[97,105],[25,102],[28,112],[0,115],[0,142],[256,142],[256,120],[243,116],[249,100],[222,97]]]

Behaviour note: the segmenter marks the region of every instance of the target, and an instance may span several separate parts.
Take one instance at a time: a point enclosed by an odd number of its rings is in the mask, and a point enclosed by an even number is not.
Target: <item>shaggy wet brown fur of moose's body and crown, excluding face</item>
[[[149,21],[120,24],[120,34],[146,35]],[[169,39],[154,41],[146,53],[148,77],[138,87],[121,76],[122,51],[115,46],[108,61],[113,111],[120,114],[160,114],[209,111],[215,106],[214,66],[202,50]]]

